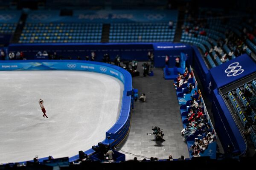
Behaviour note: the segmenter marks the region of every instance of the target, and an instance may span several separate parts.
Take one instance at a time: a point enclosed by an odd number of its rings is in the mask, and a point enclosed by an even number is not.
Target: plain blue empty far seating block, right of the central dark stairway
[[[172,42],[176,23],[112,23],[109,42]]]

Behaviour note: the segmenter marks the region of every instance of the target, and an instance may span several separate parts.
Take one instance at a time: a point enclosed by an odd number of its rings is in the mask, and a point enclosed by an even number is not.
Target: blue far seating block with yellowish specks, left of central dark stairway
[[[26,23],[19,43],[100,42],[102,24]]]

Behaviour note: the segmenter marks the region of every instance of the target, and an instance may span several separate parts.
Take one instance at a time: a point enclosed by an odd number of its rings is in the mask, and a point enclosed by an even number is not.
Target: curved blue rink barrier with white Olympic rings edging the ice
[[[0,71],[15,70],[91,71],[116,77],[124,84],[121,110],[118,120],[113,127],[106,132],[106,139],[102,141],[102,143],[110,144],[111,147],[113,147],[122,142],[122,140],[127,136],[131,125],[131,96],[127,96],[127,92],[132,90],[132,79],[131,74],[125,69],[102,62],[79,60],[20,60],[0,62]],[[109,140],[108,136],[110,136]],[[95,151],[93,149],[89,149],[84,153],[91,155],[95,153]],[[69,161],[76,161],[77,159],[79,159],[79,155],[70,157]]]

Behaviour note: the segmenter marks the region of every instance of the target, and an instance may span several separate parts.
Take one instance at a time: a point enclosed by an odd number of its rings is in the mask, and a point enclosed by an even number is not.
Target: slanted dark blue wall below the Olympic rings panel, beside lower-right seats
[[[234,150],[239,150],[240,153],[244,153],[247,147],[246,141],[217,89],[213,91],[212,96],[212,113],[214,113],[213,116],[215,122],[214,128],[221,141],[222,147],[225,152],[228,149],[227,146],[230,145]]]

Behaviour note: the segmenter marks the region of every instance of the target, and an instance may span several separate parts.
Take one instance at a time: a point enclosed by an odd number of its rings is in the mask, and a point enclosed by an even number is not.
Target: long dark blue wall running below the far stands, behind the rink
[[[67,57],[80,56],[85,59],[85,56],[91,57],[91,52],[95,51],[96,61],[102,61],[104,54],[110,55],[113,61],[116,55],[121,57],[121,60],[148,61],[148,51],[153,51],[152,43],[37,43],[37,44],[11,44],[8,51],[23,51],[26,59],[37,59],[38,51],[47,51],[53,54],[56,51],[58,56]],[[77,59],[72,57],[72,59]],[[48,57],[46,58],[48,59]]]

